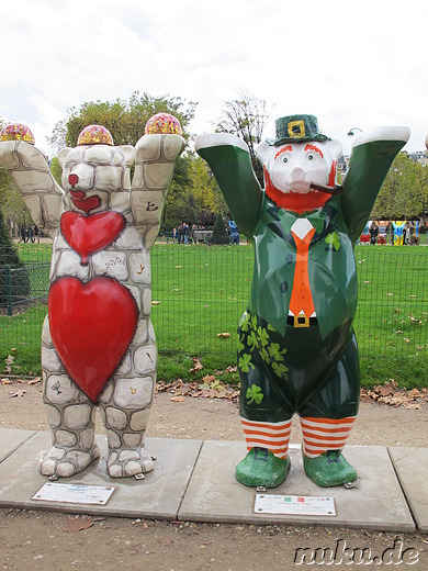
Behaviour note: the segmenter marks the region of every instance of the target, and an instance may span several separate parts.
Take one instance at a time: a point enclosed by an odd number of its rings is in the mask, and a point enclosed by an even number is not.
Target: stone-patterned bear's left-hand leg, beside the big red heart
[[[52,343],[46,317],[42,333],[43,401],[52,448],[38,464],[44,475],[68,478],[100,457],[94,444],[95,406],[65,371]]]

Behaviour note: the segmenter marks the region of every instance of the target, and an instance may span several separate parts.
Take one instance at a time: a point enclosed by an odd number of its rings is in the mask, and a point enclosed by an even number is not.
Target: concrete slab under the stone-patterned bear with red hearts
[[[0,507],[46,508],[91,515],[177,519],[179,506],[189,483],[202,441],[146,438],[149,452],[156,456],[155,470],[144,480],[111,479],[106,474],[105,436],[97,436],[100,461],[83,472],[61,478],[58,483],[104,485],[115,488],[105,505],[80,505],[32,500],[48,482],[37,470],[38,458],[50,446],[50,434],[36,433],[0,463]]]

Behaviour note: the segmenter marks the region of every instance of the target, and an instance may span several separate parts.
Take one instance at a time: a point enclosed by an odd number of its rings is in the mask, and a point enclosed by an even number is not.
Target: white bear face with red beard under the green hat
[[[273,202],[293,212],[322,208],[329,194],[311,188],[311,183],[335,187],[337,160],[341,145],[337,141],[285,143],[257,147],[263,164],[266,192]]]

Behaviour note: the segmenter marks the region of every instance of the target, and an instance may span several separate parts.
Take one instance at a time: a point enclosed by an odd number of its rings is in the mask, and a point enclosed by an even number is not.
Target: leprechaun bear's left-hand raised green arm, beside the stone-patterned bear
[[[240,232],[252,238],[261,212],[262,192],[246,143],[228,133],[200,135],[196,153],[210,165]]]

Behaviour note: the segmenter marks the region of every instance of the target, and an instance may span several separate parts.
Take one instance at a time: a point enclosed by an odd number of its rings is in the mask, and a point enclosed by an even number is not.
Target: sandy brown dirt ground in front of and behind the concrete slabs
[[[156,396],[148,436],[243,439],[235,403],[216,399],[187,398],[183,402],[170,399],[167,393]],[[100,418],[98,426],[102,432]],[[0,428],[3,427],[47,429],[40,383],[0,385]],[[291,440],[300,439],[295,425]],[[349,444],[428,447],[428,405],[406,410],[361,403]],[[339,546],[341,552],[345,545],[351,549],[371,549],[372,557],[380,557],[390,549],[383,564],[397,564],[398,560],[394,558],[402,549],[405,551],[402,568],[413,563],[412,569],[428,569],[428,536],[417,533],[103,517],[93,517],[90,527],[70,533],[66,530],[68,518],[67,514],[0,510],[0,569],[116,570],[120,567],[150,571],[286,571],[299,564],[299,558],[295,562],[296,549],[330,548],[335,551]],[[337,557],[335,567],[352,564],[349,559],[343,558],[341,564],[339,560]],[[353,564],[357,562],[358,556]],[[317,563],[323,564],[322,561]]]

